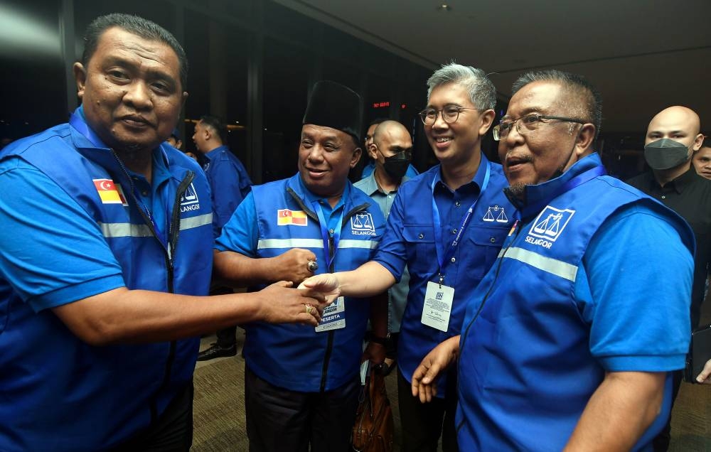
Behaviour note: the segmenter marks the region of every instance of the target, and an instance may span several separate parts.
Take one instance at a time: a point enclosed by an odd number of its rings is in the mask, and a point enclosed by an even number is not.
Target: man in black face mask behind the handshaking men
[[[385,121],[375,128],[367,151],[375,162],[375,171],[353,185],[373,198],[387,218],[397,189],[409,179],[407,172],[412,160],[412,138],[399,122]],[[395,367],[397,338],[400,335],[400,321],[405,312],[409,284],[410,274],[405,267],[400,282],[387,291],[387,333],[390,341],[386,345],[385,375]]]

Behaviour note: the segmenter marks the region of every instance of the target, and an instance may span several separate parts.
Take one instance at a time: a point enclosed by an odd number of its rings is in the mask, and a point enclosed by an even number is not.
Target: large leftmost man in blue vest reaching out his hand
[[[74,74],[69,124],[0,153],[0,450],[188,451],[191,337],[321,306],[283,281],[205,296],[210,188],[164,143],[187,96],[168,31],[101,16]]]

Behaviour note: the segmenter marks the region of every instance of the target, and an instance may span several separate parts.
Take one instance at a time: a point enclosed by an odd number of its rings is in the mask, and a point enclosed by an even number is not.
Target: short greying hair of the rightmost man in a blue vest
[[[577,119],[589,121],[595,126],[595,139],[600,134],[602,126],[602,96],[600,92],[582,75],[563,72],[562,70],[546,69],[526,72],[513,82],[511,95],[515,95],[521,88],[533,82],[557,82],[577,97],[577,102],[568,102],[570,114],[578,116]]]

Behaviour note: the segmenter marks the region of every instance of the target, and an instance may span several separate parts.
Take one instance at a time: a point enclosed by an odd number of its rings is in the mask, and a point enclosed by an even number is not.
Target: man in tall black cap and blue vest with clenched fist
[[[215,274],[236,286],[299,284],[367,262],[383,234],[378,205],[348,181],[360,158],[360,96],[314,85],[304,114],[299,173],[252,187],[223,227]],[[245,408],[250,451],[350,451],[370,303],[339,298],[309,325],[245,325]],[[387,298],[373,302],[375,338],[385,341]],[[383,362],[382,343],[365,357]]]

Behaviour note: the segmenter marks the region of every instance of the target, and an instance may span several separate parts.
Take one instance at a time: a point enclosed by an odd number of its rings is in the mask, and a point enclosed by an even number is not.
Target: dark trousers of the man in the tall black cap
[[[245,365],[245,411],[250,452],[352,451],[351,431],[360,380],[328,392],[296,392],[257,377]]]

